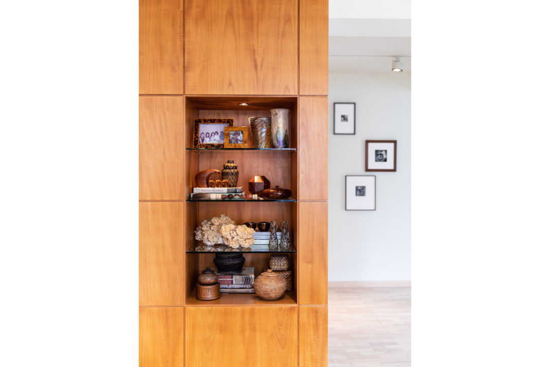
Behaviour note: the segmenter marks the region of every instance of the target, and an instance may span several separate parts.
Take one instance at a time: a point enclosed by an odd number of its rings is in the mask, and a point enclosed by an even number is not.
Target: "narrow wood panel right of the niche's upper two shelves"
[[[328,199],[328,99],[300,97],[299,199]]]

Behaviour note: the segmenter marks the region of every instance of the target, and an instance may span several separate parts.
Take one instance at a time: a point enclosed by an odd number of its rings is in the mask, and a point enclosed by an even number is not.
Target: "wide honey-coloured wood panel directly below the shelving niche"
[[[186,307],[185,367],[297,367],[297,307]]]

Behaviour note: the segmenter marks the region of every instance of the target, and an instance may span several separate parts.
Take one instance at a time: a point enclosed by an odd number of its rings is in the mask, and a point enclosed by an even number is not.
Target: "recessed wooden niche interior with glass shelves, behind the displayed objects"
[[[239,103],[248,103],[240,106]],[[290,149],[272,150],[225,150],[201,151],[193,147],[195,118],[233,118],[234,126],[248,126],[252,116],[270,117],[272,108],[290,109]],[[271,187],[279,185],[292,190],[293,199],[298,198],[298,98],[288,96],[186,96],[185,97],[185,192],[188,195],[195,185],[195,174],[204,169],[222,169],[223,163],[233,160],[239,169],[238,186],[248,191],[248,181],[253,176],[266,176]],[[249,129],[249,148],[254,145]],[[197,154],[198,153],[198,154]],[[298,205],[295,201],[188,201],[186,207],[186,249],[195,239],[194,230],[205,219],[228,215],[236,223],[247,221],[261,222],[276,220],[277,223],[288,220],[291,240],[299,252]],[[195,298],[195,285],[199,273],[207,266],[213,267],[215,254],[187,253],[186,257],[186,304],[188,305],[296,305],[298,292],[298,252],[289,254],[293,270],[293,291],[284,297],[268,302],[255,294],[224,294],[215,301],[199,301]],[[254,266],[255,275],[267,269],[268,253],[245,253],[244,266]]]

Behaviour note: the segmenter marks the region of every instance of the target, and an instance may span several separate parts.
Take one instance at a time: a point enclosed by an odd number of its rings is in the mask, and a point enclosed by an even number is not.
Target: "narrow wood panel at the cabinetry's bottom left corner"
[[[140,367],[182,367],[183,307],[140,307]]]

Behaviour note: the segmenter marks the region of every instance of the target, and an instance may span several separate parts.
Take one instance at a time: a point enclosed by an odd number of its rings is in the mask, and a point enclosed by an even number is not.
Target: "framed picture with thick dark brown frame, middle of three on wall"
[[[365,171],[397,171],[397,140],[366,140]]]

